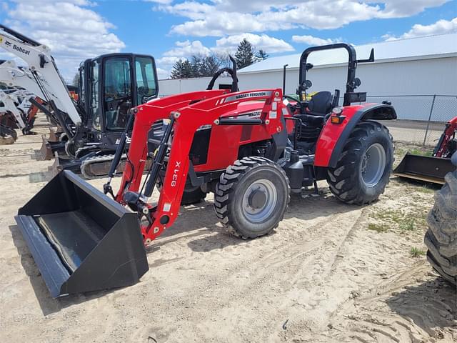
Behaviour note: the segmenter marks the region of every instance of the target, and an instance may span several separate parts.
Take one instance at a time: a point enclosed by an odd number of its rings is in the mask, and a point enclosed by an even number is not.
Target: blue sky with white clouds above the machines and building
[[[454,32],[457,1],[0,0],[0,22],[50,46],[68,80],[79,61],[119,51],[153,55],[166,78],[176,60],[233,53],[245,37],[278,56],[333,41]]]

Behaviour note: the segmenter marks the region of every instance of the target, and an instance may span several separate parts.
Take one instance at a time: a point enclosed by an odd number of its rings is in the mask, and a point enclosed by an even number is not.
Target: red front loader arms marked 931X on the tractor
[[[219,96],[217,95],[219,92]],[[116,200],[121,204],[128,204],[132,209],[136,209],[141,217],[146,217],[148,224],[141,227],[145,244],[149,244],[159,236],[161,232],[174,223],[178,216],[181,198],[186,184],[186,177],[189,172],[189,151],[194,139],[194,134],[203,125],[236,125],[241,124],[240,119],[233,117],[224,118],[224,114],[236,111],[238,105],[243,102],[264,100],[261,105],[261,116],[259,119],[242,119],[243,124],[263,126],[266,134],[272,136],[286,129],[281,121],[281,114],[278,114],[281,107],[281,89],[260,89],[256,91],[241,91],[236,93],[224,94],[223,91],[195,92],[191,94],[181,94],[179,96],[169,96],[144,104],[137,109],[134,129],[132,131],[131,144],[129,147],[129,161],[126,165],[121,189],[116,195]],[[206,96],[209,99],[189,105],[189,97],[201,99]],[[179,101],[181,100],[181,101]],[[177,103],[180,105],[176,106]],[[183,106],[183,102],[187,106]],[[174,105],[172,105],[174,104]],[[170,109],[176,110],[170,111]],[[160,119],[170,119],[169,125],[162,136],[159,148],[155,152],[154,164],[149,171],[145,184],[139,190],[141,174],[144,169],[147,154],[147,134],[151,129],[151,124]],[[239,122],[238,122],[239,121]],[[159,202],[156,206],[148,204],[148,198],[159,177],[159,170],[164,163],[164,157],[171,138],[171,147],[168,161],[166,162],[166,172],[164,186],[161,189]]]

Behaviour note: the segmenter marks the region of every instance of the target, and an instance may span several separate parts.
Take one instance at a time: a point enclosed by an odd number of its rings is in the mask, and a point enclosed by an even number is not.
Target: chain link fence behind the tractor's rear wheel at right
[[[391,101],[398,119],[386,121],[396,141],[435,146],[446,121],[457,116],[457,95],[367,96],[366,102]],[[342,100],[341,102],[342,103]]]

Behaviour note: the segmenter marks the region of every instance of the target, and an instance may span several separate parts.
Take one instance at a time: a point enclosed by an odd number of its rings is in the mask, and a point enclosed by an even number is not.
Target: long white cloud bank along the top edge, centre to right
[[[298,27],[337,29],[353,21],[412,16],[446,1],[449,0],[191,0],[158,5],[154,10],[189,19],[172,26],[172,34],[224,36]]]

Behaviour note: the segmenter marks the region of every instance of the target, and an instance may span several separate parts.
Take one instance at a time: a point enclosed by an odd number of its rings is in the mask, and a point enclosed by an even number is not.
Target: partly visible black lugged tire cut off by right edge
[[[457,285],[457,172],[448,173],[428,213],[427,259],[444,279]]]

